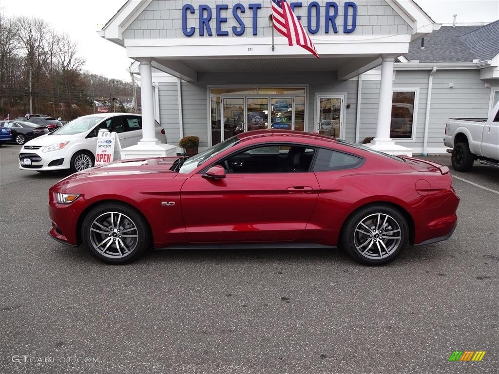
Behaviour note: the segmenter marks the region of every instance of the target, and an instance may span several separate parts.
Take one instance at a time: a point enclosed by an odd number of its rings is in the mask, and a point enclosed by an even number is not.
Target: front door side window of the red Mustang
[[[299,173],[310,171],[315,149],[266,145],[231,156],[220,163],[226,173]]]

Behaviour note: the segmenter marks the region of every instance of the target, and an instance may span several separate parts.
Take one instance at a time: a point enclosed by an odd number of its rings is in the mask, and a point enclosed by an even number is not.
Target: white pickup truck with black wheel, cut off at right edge
[[[489,118],[451,118],[445,127],[444,144],[452,148],[452,167],[467,172],[475,160],[499,167],[499,103]]]

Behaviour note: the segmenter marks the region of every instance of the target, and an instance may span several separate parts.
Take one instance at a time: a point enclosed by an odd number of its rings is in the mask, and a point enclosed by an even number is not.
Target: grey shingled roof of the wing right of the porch
[[[499,53],[499,20],[485,26],[442,26],[440,30],[409,44],[404,55],[409,61],[420,62],[473,62],[486,61]]]

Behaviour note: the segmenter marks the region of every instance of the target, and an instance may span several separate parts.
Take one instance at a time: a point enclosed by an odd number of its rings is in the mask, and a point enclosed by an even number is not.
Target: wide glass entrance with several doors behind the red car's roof
[[[305,131],[305,87],[211,87],[211,144],[258,129]]]

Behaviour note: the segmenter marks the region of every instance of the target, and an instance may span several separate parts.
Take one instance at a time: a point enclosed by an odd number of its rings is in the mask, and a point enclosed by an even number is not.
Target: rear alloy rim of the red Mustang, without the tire
[[[379,260],[390,256],[398,248],[402,231],[395,218],[385,213],[375,213],[360,220],[353,240],[362,256]]]

